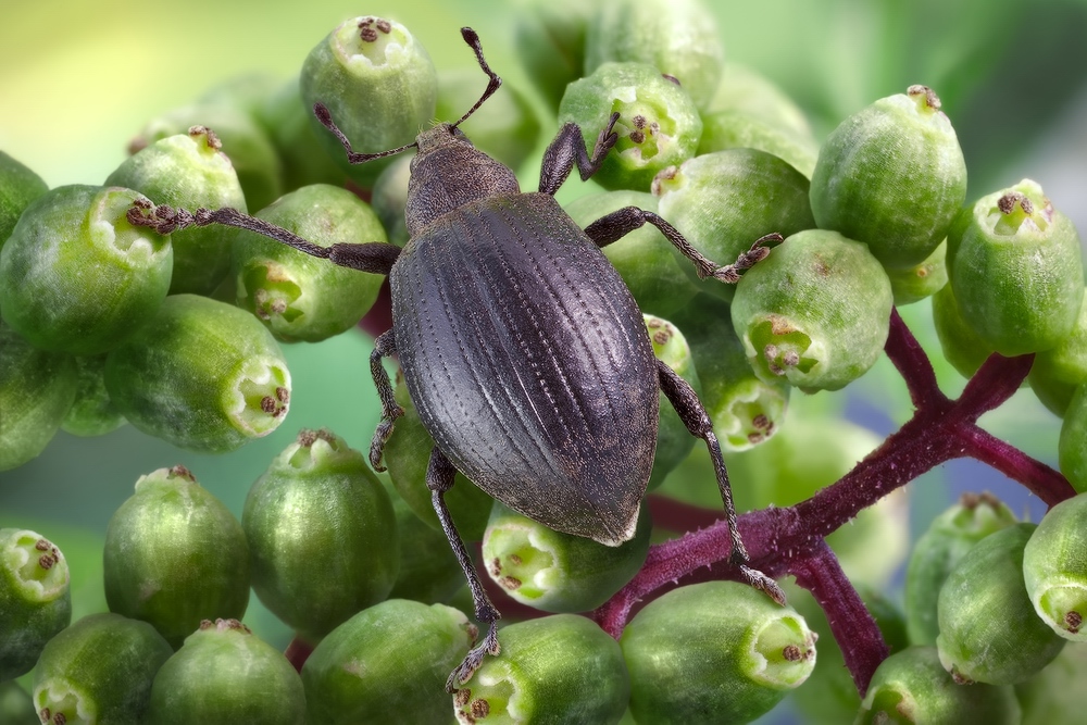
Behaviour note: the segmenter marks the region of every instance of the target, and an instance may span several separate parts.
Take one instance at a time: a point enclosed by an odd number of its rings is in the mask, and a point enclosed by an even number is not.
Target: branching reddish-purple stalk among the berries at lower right
[[[840,574],[837,562],[830,563],[834,554],[824,537],[862,509],[955,458],[971,457],[991,465],[1049,505],[1075,496],[1059,472],[976,424],[983,413],[999,407],[1019,389],[1030,370],[1033,355],[992,355],[971,378],[962,396],[952,401],[938,388],[932,363],[897,311],[891,313],[885,351],[905,379],[915,407],[913,417],[840,480],[810,499],[739,517],[752,566],[774,577],[792,573],[801,586],[812,589],[862,692],[875,665],[886,657],[886,645],[878,630],[872,632],[874,623],[869,626],[872,617]],[[654,503],[654,515],[659,511],[665,516],[674,513]],[[619,637],[633,607],[642,598],[697,580],[738,578],[728,564],[729,552],[724,521],[653,546],[638,575],[595,612],[597,622]]]

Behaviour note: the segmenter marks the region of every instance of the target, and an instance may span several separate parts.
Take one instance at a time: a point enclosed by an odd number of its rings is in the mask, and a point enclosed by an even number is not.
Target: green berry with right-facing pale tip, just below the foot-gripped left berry
[[[279,426],[290,373],[271,333],[245,310],[173,295],[107,358],[105,388],[143,433],[227,451]]]

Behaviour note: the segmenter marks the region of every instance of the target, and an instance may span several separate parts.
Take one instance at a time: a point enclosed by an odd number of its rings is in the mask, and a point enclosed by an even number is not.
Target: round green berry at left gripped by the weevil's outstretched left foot
[[[62,186],[27,207],[0,252],[0,310],[35,347],[100,354],[166,297],[170,237],[129,224],[130,189]]]

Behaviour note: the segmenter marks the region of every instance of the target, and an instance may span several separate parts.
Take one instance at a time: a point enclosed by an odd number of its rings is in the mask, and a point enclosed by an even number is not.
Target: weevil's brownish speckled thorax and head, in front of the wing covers
[[[520,193],[509,167],[479,151],[449,124],[439,124],[415,139],[418,153],[411,162],[408,233],[415,236],[427,224],[476,199]]]

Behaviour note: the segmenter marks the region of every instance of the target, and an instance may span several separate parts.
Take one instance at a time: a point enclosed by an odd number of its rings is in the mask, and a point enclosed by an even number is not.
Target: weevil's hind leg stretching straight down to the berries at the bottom
[[[483,643],[473,648],[464,658],[464,661],[450,673],[449,679],[446,680],[446,691],[448,692],[455,692],[458,685],[463,685],[472,678],[475,671],[483,664],[483,659],[486,655],[498,654],[501,649],[498,645],[498,620],[502,615],[499,614],[487,596],[487,591],[483,588],[483,583],[479,582],[479,575],[472,563],[472,558],[468,557],[467,549],[464,548],[464,541],[461,540],[461,535],[457,533],[457,526],[453,525],[453,518],[449,515],[449,508],[446,505],[445,495],[446,491],[453,487],[455,475],[457,468],[449,462],[445,453],[438,450],[437,447],[430,449],[430,462],[426,466],[426,487],[430,489],[430,500],[434,503],[435,512],[438,514],[438,521],[441,523],[441,529],[446,533],[449,546],[452,547],[453,554],[464,571],[464,578],[468,582],[468,589],[472,590],[475,618],[478,622],[486,623],[488,629]]]

